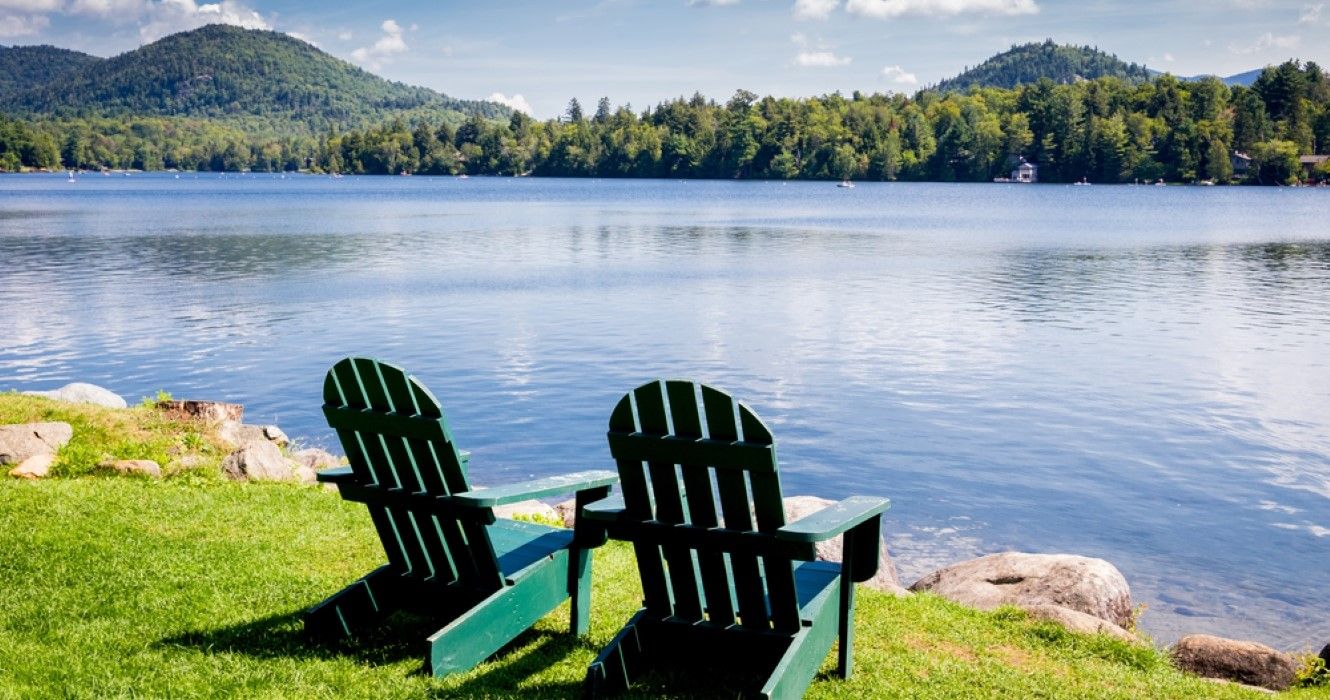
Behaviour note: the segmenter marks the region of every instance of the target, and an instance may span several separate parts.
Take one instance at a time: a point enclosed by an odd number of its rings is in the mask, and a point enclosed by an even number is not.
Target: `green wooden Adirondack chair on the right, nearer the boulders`
[[[609,451],[622,498],[588,506],[579,536],[633,543],[645,602],[588,669],[588,696],[652,668],[720,665],[751,679],[746,695],[801,697],[837,637],[850,676],[854,582],[876,572],[886,499],[849,498],[786,524],[771,433],[693,382],[625,395]],[[815,543],[841,534],[845,562],[814,562]]]

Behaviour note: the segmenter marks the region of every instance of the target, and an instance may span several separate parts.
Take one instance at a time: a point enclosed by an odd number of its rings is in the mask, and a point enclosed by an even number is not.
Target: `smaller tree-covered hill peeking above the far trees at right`
[[[1105,76],[1141,83],[1149,80],[1150,72],[1144,65],[1125,63],[1096,48],[1059,45],[1047,40],[1012,47],[954,79],[943,80],[938,89],[955,92],[971,85],[1015,88],[1045,77],[1053,83],[1069,84]]]

